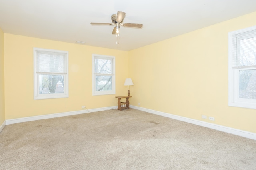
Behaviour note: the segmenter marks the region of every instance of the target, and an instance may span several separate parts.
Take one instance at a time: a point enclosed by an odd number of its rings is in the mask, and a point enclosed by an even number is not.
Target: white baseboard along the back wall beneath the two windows
[[[88,109],[88,110],[79,110],[79,111],[69,111],[69,112],[54,113],[54,114],[49,114],[49,115],[22,117],[22,118],[18,118],[18,119],[7,119],[5,121],[5,123],[6,123],[6,125],[10,125],[10,124],[14,124],[14,123],[21,123],[21,122],[42,120],[42,119],[50,119],[50,118],[55,118],[55,117],[63,117],[63,116],[71,116],[71,115],[79,115],[79,114],[84,114],[84,113],[89,113],[89,112],[104,111],[104,110],[110,110],[110,109],[117,109],[117,106],[102,107],[102,108]]]

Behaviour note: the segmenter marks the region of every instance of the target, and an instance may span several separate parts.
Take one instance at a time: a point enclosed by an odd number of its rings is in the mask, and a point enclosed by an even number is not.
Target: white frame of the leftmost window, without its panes
[[[58,52],[66,53],[66,73],[41,73],[36,72],[36,51],[46,51],[46,52]],[[52,99],[52,98],[68,98],[68,51],[60,51],[53,49],[42,49],[42,48],[33,48],[34,53],[34,100],[38,99]],[[64,93],[49,93],[49,94],[40,94],[39,93],[39,75],[43,74],[53,74],[53,75],[63,75],[64,77]]]

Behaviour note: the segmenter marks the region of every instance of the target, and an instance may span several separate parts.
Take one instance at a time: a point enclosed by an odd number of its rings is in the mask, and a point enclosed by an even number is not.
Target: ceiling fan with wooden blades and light
[[[115,25],[112,34],[119,33],[120,25],[124,27],[134,27],[134,28],[141,28],[143,24],[139,23],[123,23],[125,16],[125,12],[118,11],[117,14],[113,14],[111,16],[112,23],[95,23],[91,22],[92,25]]]

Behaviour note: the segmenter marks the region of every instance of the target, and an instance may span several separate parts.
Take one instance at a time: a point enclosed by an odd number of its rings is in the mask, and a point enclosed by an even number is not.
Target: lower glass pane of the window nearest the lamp
[[[96,76],[96,91],[112,90],[112,76]]]

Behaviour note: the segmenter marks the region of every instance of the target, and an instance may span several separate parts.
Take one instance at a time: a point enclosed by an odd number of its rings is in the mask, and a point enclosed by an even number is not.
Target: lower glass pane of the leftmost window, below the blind
[[[64,93],[63,75],[39,75],[39,94]]]

